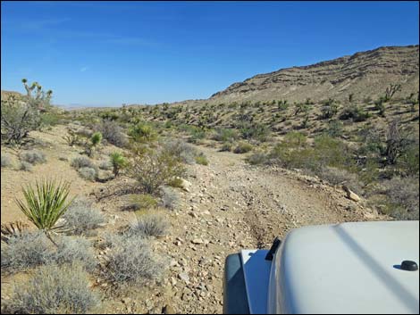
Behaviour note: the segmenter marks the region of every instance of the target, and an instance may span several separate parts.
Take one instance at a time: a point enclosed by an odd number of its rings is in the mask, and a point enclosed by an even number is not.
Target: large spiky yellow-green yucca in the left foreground
[[[55,223],[74,200],[72,198],[68,201],[70,182],[37,180],[35,187],[28,185],[22,187],[22,191],[26,204],[19,199],[16,199],[16,203],[37,228],[43,230],[46,236],[50,236],[50,233],[58,228],[63,228],[55,227]]]

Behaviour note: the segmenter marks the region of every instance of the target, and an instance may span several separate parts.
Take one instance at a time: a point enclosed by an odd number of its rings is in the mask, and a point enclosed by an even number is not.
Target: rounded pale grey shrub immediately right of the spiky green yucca
[[[64,213],[65,228],[69,233],[82,235],[105,223],[104,215],[88,199],[76,199]]]

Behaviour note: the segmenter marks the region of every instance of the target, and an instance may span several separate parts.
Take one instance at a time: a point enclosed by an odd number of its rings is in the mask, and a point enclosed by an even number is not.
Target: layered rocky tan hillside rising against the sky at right
[[[377,97],[390,83],[400,95],[418,90],[419,46],[388,46],[304,67],[258,74],[215,93],[215,102],[288,99],[346,99],[349,94]]]

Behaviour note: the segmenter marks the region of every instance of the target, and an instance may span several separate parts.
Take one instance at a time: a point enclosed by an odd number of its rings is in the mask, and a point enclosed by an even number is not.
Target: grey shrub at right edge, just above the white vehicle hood
[[[391,178],[383,183],[390,200],[390,213],[399,220],[418,220],[418,178]]]

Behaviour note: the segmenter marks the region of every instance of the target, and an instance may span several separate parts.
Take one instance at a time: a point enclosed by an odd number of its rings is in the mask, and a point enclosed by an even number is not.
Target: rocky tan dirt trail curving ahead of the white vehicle
[[[253,167],[239,154],[199,150],[209,165],[191,166],[189,191],[171,212],[172,233],[161,244],[171,256],[164,300],[177,313],[222,313],[223,265],[230,253],[269,248],[291,228],[379,219],[317,178]]]

